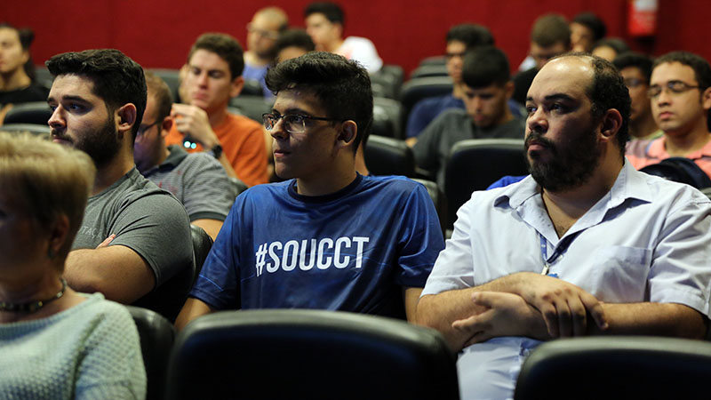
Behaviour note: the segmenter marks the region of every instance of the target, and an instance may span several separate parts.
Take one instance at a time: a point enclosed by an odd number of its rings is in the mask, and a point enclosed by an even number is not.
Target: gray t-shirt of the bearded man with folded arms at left
[[[190,222],[182,204],[135,167],[89,197],[72,250],[94,249],[110,235],[116,238],[109,245],[129,247],[148,262],[156,287],[193,262]]]

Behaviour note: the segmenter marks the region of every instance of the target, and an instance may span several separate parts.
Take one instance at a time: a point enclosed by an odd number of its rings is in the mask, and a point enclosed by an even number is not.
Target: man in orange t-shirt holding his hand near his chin
[[[261,125],[228,113],[229,100],[244,86],[242,47],[232,36],[208,33],[188,54],[183,86],[187,104],[173,104],[174,118],[166,145],[182,144],[188,152],[211,152],[228,175],[248,186],[268,182]]]

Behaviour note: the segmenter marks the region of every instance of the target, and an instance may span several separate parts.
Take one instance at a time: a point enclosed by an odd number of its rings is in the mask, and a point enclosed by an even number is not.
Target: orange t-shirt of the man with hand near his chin
[[[269,181],[267,148],[261,124],[246,116],[228,114],[222,124],[212,127],[212,131],[220,140],[222,151],[239,180],[242,180],[247,186]],[[173,124],[168,136],[165,137],[165,144],[182,145],[183,139],[185,136],[178,132],[178,128]],[[204,151],[204,148],[200,143],[196,143],[196,148],[187,151],[188,153],[197,153]]]

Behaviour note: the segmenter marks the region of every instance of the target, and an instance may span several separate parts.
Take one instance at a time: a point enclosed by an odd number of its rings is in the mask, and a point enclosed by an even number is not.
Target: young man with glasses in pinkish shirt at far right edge
[[[640,169],[681,156],[694,161],[711,176],[711,136],[707,112],[711,108],[711,67],[691,52],[670,52],[654,62],[650,88],[651,113],[664,136],[628,151]]]

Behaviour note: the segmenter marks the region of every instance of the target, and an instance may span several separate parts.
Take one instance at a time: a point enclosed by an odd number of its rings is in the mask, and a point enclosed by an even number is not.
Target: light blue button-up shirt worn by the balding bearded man
[[[628,162],[608,192],[558,238],[531,176],[475,192],[422,295],[464,289],[516,272],[550,274],[610,303],[684,304],[708,316],[711,201],[695,188],[637,172]],[[538,340],[499,337],[459,354],[462,398],[507,398]]]

